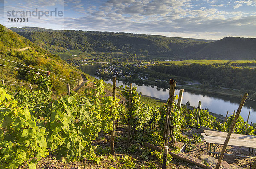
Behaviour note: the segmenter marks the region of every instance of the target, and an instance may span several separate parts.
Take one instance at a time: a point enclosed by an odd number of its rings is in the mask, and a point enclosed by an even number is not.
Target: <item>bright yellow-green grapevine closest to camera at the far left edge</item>
[[[3,87],[0,95],[0,168],[16,169],[25,161],[35,169],[41,157],[49,154],[45,128],[37,126],[29,109],[18,107]]]

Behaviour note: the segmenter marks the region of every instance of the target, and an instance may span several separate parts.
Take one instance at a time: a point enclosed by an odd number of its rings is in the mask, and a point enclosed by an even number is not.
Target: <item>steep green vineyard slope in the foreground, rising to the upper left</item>
[[[15,92],[7,84],[0,86],[1,169],[157,169],[163,163],[163,141],[165,145],[174,144],[167,150],[170,155],[166,157],[166,168],[215,168],[217,159],[205,158],[208,151],[206,139],[203,139],[199,129],[193,128],[196,123],[221,132],[227,132],[232,127],[234,133],[256,135],[255,125],[244,131],[247,124],[240,116],[237,120],[239,113],[235,118],[231,115],[223,123],[199,107],[195,111],[195,114],[198,112],[196,120],[194,109],[187,109],[186,106],[178,108],[177,103],[171,103],[175,98],[174,92],[169,96],[172,98],[170,104],[150,106],[140,99],[137,87],[129,89],[125,86],[116,91],[114,86],[99,80],[88,82],[81,93],[66,95],[66,82],[73,87],[77,83],[75,80],[81,78],[77,69],[67,65],[58,55],[49,53],[2,25],[0,42],[1,80],[38,85],[33,90],[20,87]],[[46,71],[51,71],[50,78],[42,78],[46,77]],[[84,76],[82,78],[85,79]],[[172,84],[172,89],[175,85]],[[109,92],[105,92],[105,86]],[[51,89],[57,95],[64,96],[55,98]],[[115,95],[123,95],[124,100],[129,101],[125,105],[119,104]],[[179,100],[181,104],[182,98]],[[175,126],[173,129],[169,127],[170,122]],[[230,127],[231,124],[236,126]],[[161,131],[165,131],[164,134]],[[151,148],[156,146],[161,147]],[[186,147],[186,154],[180,152],[182,147]],[[221,146],[218,152],[220,150]],[[245,151],[230,146],[227,150],[229,154],[247,155]],[[242,158],[244,161],[233,158],[223,160],[228,163],[223,161],[221,168],[225,164],[225,168],[239,169],[239,166],[249,165],[250,158]]]

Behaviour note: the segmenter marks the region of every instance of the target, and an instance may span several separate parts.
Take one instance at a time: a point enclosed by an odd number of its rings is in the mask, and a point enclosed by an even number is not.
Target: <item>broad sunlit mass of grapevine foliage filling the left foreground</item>
[[[57,159],[99,163],[91,142],[101,130],[113,130],[119,100],[102,97],[102,80],[94,83],[93,89],[87,88],[84,98],[72,92],[53,100],[49,82],[41,78],[38,89],[20,88],[15,95],[0,87],[1,168],[16,169],[26,162],[29,169],[35,169],[38,161],[49,154],[48,149]]]

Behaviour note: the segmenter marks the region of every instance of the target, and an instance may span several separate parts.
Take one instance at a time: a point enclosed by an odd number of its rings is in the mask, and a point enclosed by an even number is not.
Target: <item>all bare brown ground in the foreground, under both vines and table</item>
[[[140,169],[144,166],[146,168],[151,169],[161,169],[162,163],[160,160],[158,160],[156,157],[148,154],[147,159],[142,157],[143,152],[147,151],[143,147],[143,141],[136,141],[134,140],[133,143],[127,144],[126,143],[126,128],[125,126],[119,125],[116,128],[116,139],[115,139],[115,150],[116,154],[113,156],[113,158],[109,158],[108,155],[103,155],[102,160],[100,164],[96,163],[86,163],[86,169],[118,169],[122,167],[121,161],[115,161],[114,159],[119,158],[121,159],[122,156],[129,155],[132,158],[136,159],[137,168]],[[200,133],[203,132],[200,129],[187,129],[186,132],[183,132],[183,135],[186,137],[192,139],[192,134],[197,133],[200,135]],[[141,137],[141,133],[139,133]],[[203,140],[203,143],[194,143],[192,144],[194,147],[191,149],[190,152],[186,152],[186,155],[193,156],[195,158],[200,158],[200,155],[207,154],[207,145],[204,141],[204,138],[201,137]],[[97,140],[95,140],[93,145],[98,145],[102,147],[103,149],[108,149],[110,145],[110,135],[100,132],[99,137]],[[176,142],[175,146],[179,147],[179,149],[183,146],[183,143]],[[217,152],[221,152],[222,146],[219,146],[216,150]],[[109,149],[108,149],[109,152]],[[241,147],[227,147],[227,152],[229,154],[237,154],[237,155],[249,155],[248,149],[241,148]],[[99,156],[98,156],[99,157]],[[37,169],[83,169],[83,162],[64,162],[65,158],[62,158],[61,160],[56,160],[55,155],[48,155],[46,158],[42,158],[38,165]],[[167,166],[167,169],[202,169],[199,166],[195,166],[190,163],[183,162],[181,160],[176,160],[172,158],[173,162],[169,163]],[[240,166],[241,168],[248,169],[250,168],[250,163],[252,163],[254,160],[249,158],[239,158],[235,156],[224,156],[225,161],[227,161],[230,164],[236,164]],[[154,166],[154,167],[153,167]],[[112,168],[113,167],[113,168]],[[26,164],[23,166],[20,166],[20,169],[26,169],[28,168]]]

